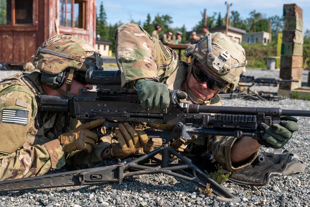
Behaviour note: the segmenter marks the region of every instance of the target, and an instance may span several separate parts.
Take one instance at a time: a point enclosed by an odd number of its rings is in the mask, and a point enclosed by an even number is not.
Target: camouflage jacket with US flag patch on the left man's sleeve
[[[42,175],[65,164],[91,167],[102,161],[98,145],[86,151],[64,155],[57,137],[78,126],[68,113],[38,111],[35,94],[47,95],[40,85],[40,73],[15,74],[0,85],[0,180]]]

